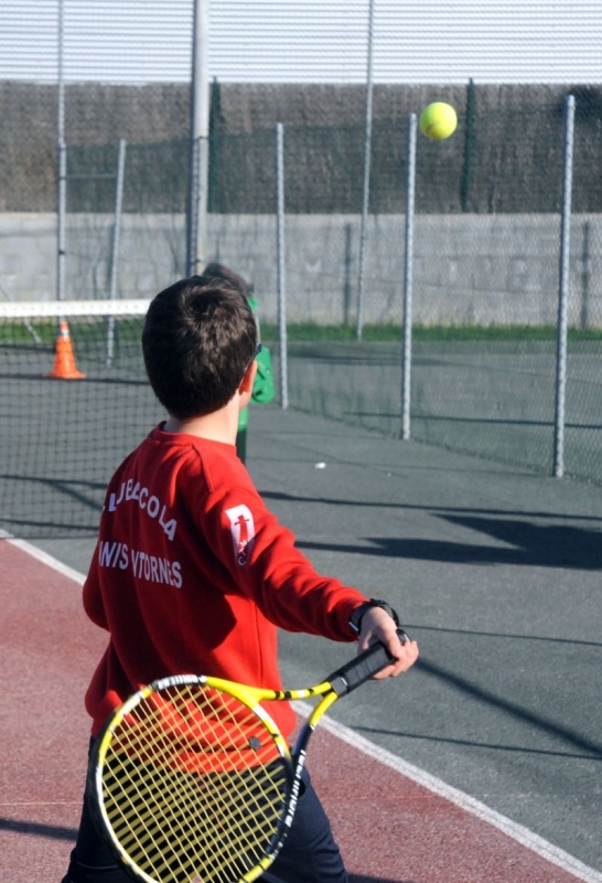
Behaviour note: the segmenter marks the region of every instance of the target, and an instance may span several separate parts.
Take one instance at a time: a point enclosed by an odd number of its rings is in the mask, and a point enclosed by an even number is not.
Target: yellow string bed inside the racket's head
[[[151,694],[114,731],[106,815],[121,850],[151,879],[229,883],[277,834],[288,763],[239,700],[201,684],[178,691]]]

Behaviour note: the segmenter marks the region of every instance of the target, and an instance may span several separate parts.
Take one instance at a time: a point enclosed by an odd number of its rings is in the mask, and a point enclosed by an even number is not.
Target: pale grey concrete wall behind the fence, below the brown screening
[[[66,297],[108,296],[112,219],[69,215]],[[289,215],[287,294],[290,321],[354,322],[357,215]],[[400,322],[402,215],[370,217],[366,322]],[[272,215],[211,215],[209,257],[255,285],[264,320],[278,317]],[[558,215],[418,215],[413,321],[553,325],[558,300]],[[181,215],[125,215],[119,294],[152,297],[184,272]],[[0,295],[56,297],[56,221],[52,214],[0,214]],[[602,219],[571,225],[570,323],[602,327]]]

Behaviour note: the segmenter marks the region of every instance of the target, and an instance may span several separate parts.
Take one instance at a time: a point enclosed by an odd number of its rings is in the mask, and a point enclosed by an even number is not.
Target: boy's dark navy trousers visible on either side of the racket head
[[[301,797],[284,847],[261,880],[269,883],[347,883],[329,819],[307,770],[303,770]],[[86,796],[77,841],[63,883],[131,883],[131,876],[98,834]]]

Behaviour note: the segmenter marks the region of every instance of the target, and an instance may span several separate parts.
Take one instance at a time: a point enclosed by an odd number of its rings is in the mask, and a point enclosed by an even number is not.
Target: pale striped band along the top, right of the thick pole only
[[[375,0],[375,83],[602,82],[600,0]],[[233,21],[236,25],[233,28]],[[364,82],[368,0],[219,0],[223,82]]]

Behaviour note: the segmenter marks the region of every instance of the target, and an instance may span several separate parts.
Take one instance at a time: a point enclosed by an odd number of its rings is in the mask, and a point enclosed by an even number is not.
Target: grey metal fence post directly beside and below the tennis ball
[[[416,114],[408,117],[408,155],[406,181],[406,254],[404,258],[404,364],[401,372],[401,438],[410,437],[411,396],[411,323],[413,273],[413,203],[416,196]]]

